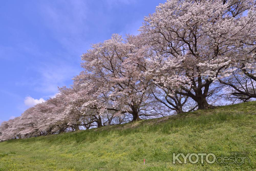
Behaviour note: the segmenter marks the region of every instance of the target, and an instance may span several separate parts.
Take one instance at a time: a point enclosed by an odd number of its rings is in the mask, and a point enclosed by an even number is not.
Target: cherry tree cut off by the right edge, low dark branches
[[[230,77],[219,78],[222,84],[228,86],[231,97],[248,101],[255,98],[255,81],[256,81],[256,2],[255,1],[233,1],[234,5],[230,12],[237,16],[241,9],[251,7],[246,16],[241,16],[239,25],[240,33],[235,37],[238,48],[233,53],[232,73]],[[238,4],[238,2],[240,4]],[[249,5],[250,4],[250,5]],[[241,7],[240,7],[241,6]],[[237,8],[237,9],[236,9]],[[237,11],[237,12],[236,12]]]

